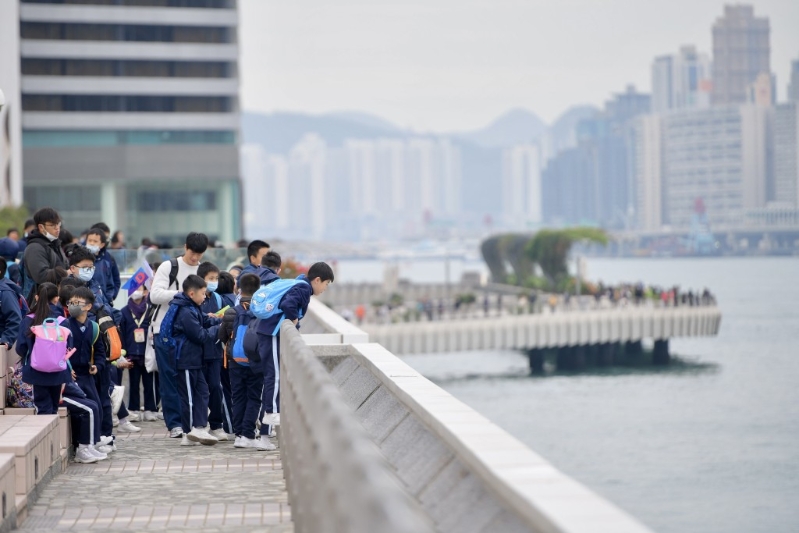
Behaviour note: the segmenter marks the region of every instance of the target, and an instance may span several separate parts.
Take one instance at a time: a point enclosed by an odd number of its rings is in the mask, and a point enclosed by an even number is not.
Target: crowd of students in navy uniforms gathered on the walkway
[[[69,410],[78,443],[75,461],[106,459],[117,446],[113,427],[137,432],[136,420],[163,420],[182,446],[233,440],[237,448],[276,448],[269,438],[280,424],[280,324],[289,320],[299,327],[311,296],[333,281],[329,265],[312,265],[281,294],[280,312],[258,320],[251,299],[280,279],[280,256],[256,240],[247,248],[249,264],[221,271],[202,261],[207,236],[192,232],[180,257],[152,265],[149,290],[137,288],[117,310],[118,281],[113,285],[111,276],[112,284],[106,284],[97,276],[108,235],[93,228],[85,245],[62,248],[55,210],[40,209],[34,223],[17,265],[22,286],[10,278],[0,281],[0,344],[9,349],[16,344],[22,380],[32,386],[39,414],[55,414],[59,405]],[[7,266],[0,261],[0,275]],[[23,297],[26,282],[30,310]],[[36,342],[48,326],[64,332],[67,368],[34,368]],[[126,353],[112,360],[109,330],[114,328]],[[239,348],[249,330],[256,346],[247,356]],[[157,366],[152,372],[145,365],[148,351],[154,351]],[[121,396],[113,398],[124,369],[129,370],[131,411]]]

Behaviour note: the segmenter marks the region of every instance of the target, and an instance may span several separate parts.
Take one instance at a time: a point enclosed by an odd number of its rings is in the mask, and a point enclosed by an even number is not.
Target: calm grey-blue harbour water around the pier
[[[453,280],[479,268],[451,266]],[[401,275],[443,272],[428,261]],[[515,352],[405,361],[656,531],[799,532],[799,259],[593,259],[588,274],[709,287],[721,331],[673,340],[663,370],[531,377]],[[381,275],[343,262],[338,279]]]

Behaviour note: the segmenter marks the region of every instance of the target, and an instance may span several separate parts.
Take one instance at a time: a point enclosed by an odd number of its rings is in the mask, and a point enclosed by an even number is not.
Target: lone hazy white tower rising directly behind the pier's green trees
[[[541,150],[537,145],[522,144],[504,151],[502,214],[509,229],[541,224]]]

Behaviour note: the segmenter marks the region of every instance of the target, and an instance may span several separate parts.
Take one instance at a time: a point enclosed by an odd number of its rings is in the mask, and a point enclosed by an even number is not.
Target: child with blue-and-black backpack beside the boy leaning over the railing
[[[239,277],[241,301],[233,309],[228,309],[219,328],[219,339],[227,344],[226,360],[230,369],[230,387],[233,395],[233,433],[236,448],[255,448],[271,451],[275,445],[268,438],[255,438],[255,424],[261,412],[261,391],[264,377],[256,372],[247,358],[237,360],[233,356],[233,345],[236,335],[243,335],[239,326],[246,326],[255,320],[249,313],[250,300],[261,286],[261,280],[255,274],[244,274]]]

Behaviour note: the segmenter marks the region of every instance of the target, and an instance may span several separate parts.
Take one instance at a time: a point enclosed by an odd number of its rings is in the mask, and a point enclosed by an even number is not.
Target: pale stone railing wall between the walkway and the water
[[[326,322],[328,316],[329,309],[314,301],[303,319],[303,331],[309,330],[310,334],[303,338],[311,340],[335,330],[334,324]],[[350,330],[349,334],[352,333]],[[383,346],[369,343],[309,346],[288,324],[282,334],[281,387],[285,392],[281,438],[290,439],[285,441],[282,453],[287,461],[289,492],[293,495],[290,496],[293,516],[301,517],[305,512],[294,507],[295,501],[305,506],[302,509],[325,507],[331,499],[360,498],[362,490],[375,493],[384,490],[387,485],[383,483],[387,482],[382,477],[374,487],[364,487],[359,485],[371,484],[364,475],[339,473],[335,480],[337,495],[320,487],[303,491],[314,480],[320,485],[326,483],[324,480],[329,478],[325,476],[338,468],[333,466],[336,462],[352,460],[342,457],[349,455],[346,439],[350,435],[357,439],[366,435],[381,452],[381,459],[391,466],[390,471],[406,496],[415,501],[436,531],[650,531],[559,472]],[[324,364],[330,381],[321,376],[320,365],[311,364],[314,358]],[[300,366],[305,370],[298,372]],[[300,379],[301,384],[297,382]],[[306,391],[302,398],[294,392],[297,387]],[[321,419],[331,416],[320,415],[329,405],[336,406],[337,422]],[[311,413],[312,410],[317,413]],[[317,425],[309,425],[312,417],[321,417],[315,418],[319,420]],[[338,428],[334,427],[336,424]],[[294,433],[298,426],[304,435]],[[297,444],[299,439],[308,439],[308,444]],[[303,447],[292,457],[292,446]],[[372,461],[374,448],[360,440],[358,446],[364,446],[364,451],[352,447],[353,451]],[[300,465],[302,461],[309,462],[308,466]],[[304,473],[297,473],[298,468],[304,468]],[[324,471],[321,479],[313,470],[320,468]],[[310,478],[301,477],[306,475]],[[394,493],[390,498],[394,502],[404,501]],[[387,524],[393,521],[375,525],[373,530],[389,531]]]

